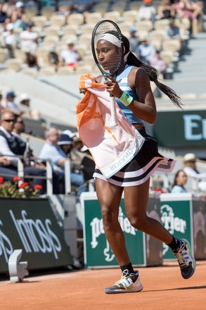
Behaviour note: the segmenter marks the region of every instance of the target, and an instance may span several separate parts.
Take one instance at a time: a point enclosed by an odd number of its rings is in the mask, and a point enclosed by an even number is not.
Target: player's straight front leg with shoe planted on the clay
[[[117,187],[103,180],[96,179],[96,193],[98,202],[101,204],[105,236],[122,269],[122,278],[111,287],[105,288],[105,293],[107,294],[139,292],[143,289],[139,280],[138,271],[134,272],[131,266],[125,245],[124,233],[118,221],[122,191],[122,187]],[[129,272],[128,268],[133,272]]]

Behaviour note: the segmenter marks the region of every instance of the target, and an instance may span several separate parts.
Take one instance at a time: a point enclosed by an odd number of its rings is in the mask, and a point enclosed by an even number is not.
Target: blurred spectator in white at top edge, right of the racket
[[[155,21],[156,9],[153,5],[153,0],[143,0],[143,4],[139,8],[137,13],[137,20],[151,20],[152,23]]]

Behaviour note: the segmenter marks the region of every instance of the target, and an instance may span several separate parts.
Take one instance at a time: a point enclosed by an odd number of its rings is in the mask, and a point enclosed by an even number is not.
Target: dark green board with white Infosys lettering
[[[8,259],[22,249],[28,270],[72,263],[48,199],[0,199],[0,273],[8,272]]]

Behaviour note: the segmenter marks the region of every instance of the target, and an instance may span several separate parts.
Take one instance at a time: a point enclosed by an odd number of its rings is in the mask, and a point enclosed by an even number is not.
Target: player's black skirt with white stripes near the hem
[[[126,187],[141,185],[155,171],[169,173],[173,170],[176,161],[174,159],[168,159],[158,152],[157,140],[148,135],[144,127],[139,128],[138,131],[145,138],[145,142],[134,159],[108,179],[96,168],[93,175],[94,178]]]

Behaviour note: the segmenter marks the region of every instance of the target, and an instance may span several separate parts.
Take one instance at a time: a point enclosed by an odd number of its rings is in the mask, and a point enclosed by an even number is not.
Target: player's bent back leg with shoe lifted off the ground
[[[165,227],[154,218],[147,216],[150,181],[134,187],[124,187],[124,204],[127,217],[134,228],[167,244],[176,256],[184,279],[191,278],[195,272],[195,259],[188,240],[181,240],[172,236]]]

